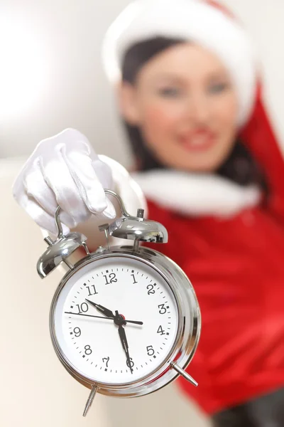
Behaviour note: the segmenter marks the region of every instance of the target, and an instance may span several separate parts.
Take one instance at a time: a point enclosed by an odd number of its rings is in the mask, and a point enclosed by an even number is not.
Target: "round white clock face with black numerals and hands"
[[[178,306],[154,268],[118,255],[84,265],[67,280],[53,322],[73,369],[92,381],[125,384],[167,360],[178,333]]]

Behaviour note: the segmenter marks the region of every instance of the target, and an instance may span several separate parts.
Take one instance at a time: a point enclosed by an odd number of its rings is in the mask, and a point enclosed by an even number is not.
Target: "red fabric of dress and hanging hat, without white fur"
[[[188,367],[199,386],[180,385],[209,414],[284,386],[284,162],[260,96],[241,139],[266,173],[266,204],[193,218],[148,200],[148,217],[169,232],[153,248],[180,265],[200,302]]]

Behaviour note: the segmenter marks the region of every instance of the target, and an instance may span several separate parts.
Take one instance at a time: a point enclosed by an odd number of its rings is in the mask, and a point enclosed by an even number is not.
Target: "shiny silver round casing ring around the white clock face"
[[[60,342],[55,332],[55,307],[60,292],[67,281],[89,263],[96,263],[104,258],[122,257],[136,260],[153,268],[168,283],[178,307],[178,331],[170,353],[163,362],[150,374],[143,378],[124,384],[107,384],[95,382],[83,376],[68,361],[62,352]],[[50,335],[60,362],[65,369],[82,385],[107,396],[136,397],[153,393],[163,388],[182,373],[195,354],[200,339],[201,315],[195,290],[182,269],[162,253],[146,247],[133,251],[133,246],[113,246],[104,251],[89,253],[73,265],[60,281],[50,307]],[[189,376],[190,377],[190,376]],[[197,384],[195,384],[197,385]],[[93,398],[93,396],[92,396]]]

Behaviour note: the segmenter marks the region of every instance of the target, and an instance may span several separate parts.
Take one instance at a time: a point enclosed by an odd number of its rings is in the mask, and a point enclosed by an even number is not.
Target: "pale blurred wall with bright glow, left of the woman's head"
[[[100,60],[100,46],[107,26],[127,3],[126,0],[0,1],[0,51],[9,44],[12,48],[15,44],[16,48],[20,47],[19,78],[23,85],[31,88],[33,97],[31,102],[26,99],[25,103],[18,95],[23,107],[20,111],[17,102],[11,106],[7,96],[4,99],[3,92],[6,94],[11,74],[1,70],[3,65],[8,66],[8,62],[0,56],[0,157],[29,154],[40,139],[65,127],[76,127],[89,137],[99,152],[111,154],[113,145],[116,157],[124,159],[124,144],[114,119],[111,90]],[[19,18],[20,21],[23,19],[21,26],[18,25]],[[1,19],[10,21],[11,25],[16,22],[12,36],[1,38],[4,32],[2,27],[1,33]],[[40,44],[40,48],[33,48],[37,58],[33,58],[31,77],[24,73],[26,78],[21,75],[21,69],[26,72],[27,66],[22,51],[26,50],[29,56],[31,52],[25,43],[22,46],[24,25]],[[17,31],[18,40],[15,41],[13,36]],[[9,59],[15,63],[13,57]],[[45,80],[38,96],[33,93],[36,67],[40,68]]]

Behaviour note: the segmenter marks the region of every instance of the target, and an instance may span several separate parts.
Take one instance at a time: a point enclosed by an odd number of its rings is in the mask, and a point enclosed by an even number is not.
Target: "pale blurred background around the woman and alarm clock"
[[[15,324],[10,330],[1,330],[6,338],[1,339],[5,348],[1,348],[0,356],[1,426],[73,427],[91,423],[99,427],[207,426],[202,414],[185,401],[174,385],[139,399],[116,400],[98,396],[89,420],[82,418],[87,391],[75,384],[60,366],[48,334],[48,309],[55,290],[54,278],[44,287],[39,286],[33,271],[42,248],[33,250],[27,239],[32,234],[34,241],[39,241],[39,232],[29,218],[25,216],[23,219],[23,212],[11,201],[11,177],[18,171],[16,157],[28,156],[40,139],[55,135],[66,127],[80,130],[98,153],[107,154],[126,167],[131,165],[131,155],[116,113],[114,93],[101,61],[104,33],[128,3],[128,0],[0,0],[0,191],[2,200],[9,201],[3,205],[0,221],[10,221],[2,238],[9,241],[13,233],[12,240],[15,241],[23,228],[27,232],[25,244],[23,238],[21,247],[16,241],[16,252],[11,260],[7,261],[7,256],[8,253],[12,255],[12,247],[7,249],[5,246],[0,252],[2,264],[5,259],[5,265],[1,265],[2,273],[6,274],[5,280],[3,276],[1,278],[1,287],[4,289],[4,283],[18,283],[15,272],[11,273],[18,256],[21,258],[18,264],[21,289],[9,288],[6,298],[11,300],[11,292],[21,297],[25,289],[29,301],[33,300],[33,306],[37,306],[28,314],[20,302],[16,307],[21,315],[25,313],[22,327],[25,326],[24,333],[32,342],[29,347],[25,347],[26,341],[21,342],[17,358],[12,349],[15,346],[17,351],[20,315],[14,315]],[[223,0],[220,3],[239,17],[253,37],[261,58],[268,110],[279,139],[284,141],[284,2]],[[11,214],[12,209],[16,209],[15,214]],[[28,270],[23,273],[23,268]],[[5,322],[16,310],[9,307],[3,315]],[[40,314],[35,321],[35,315]],[[6,346],[9,346],[8,352]],[[37,351],[38,357],[31,363],[30,352],[32,357]],[[26,359],[21,352],[26,354]],[[46,362],[40,364],[40,357],[48,358],[48,367]],[[13,376],[12,365],[15,369]],[[43,377],[40,372],[44,372]],[[20,380],[20,390],[16,389],[16,384],[19,386],[16,379]],[[15,404],[18,411],[14,411]]]

